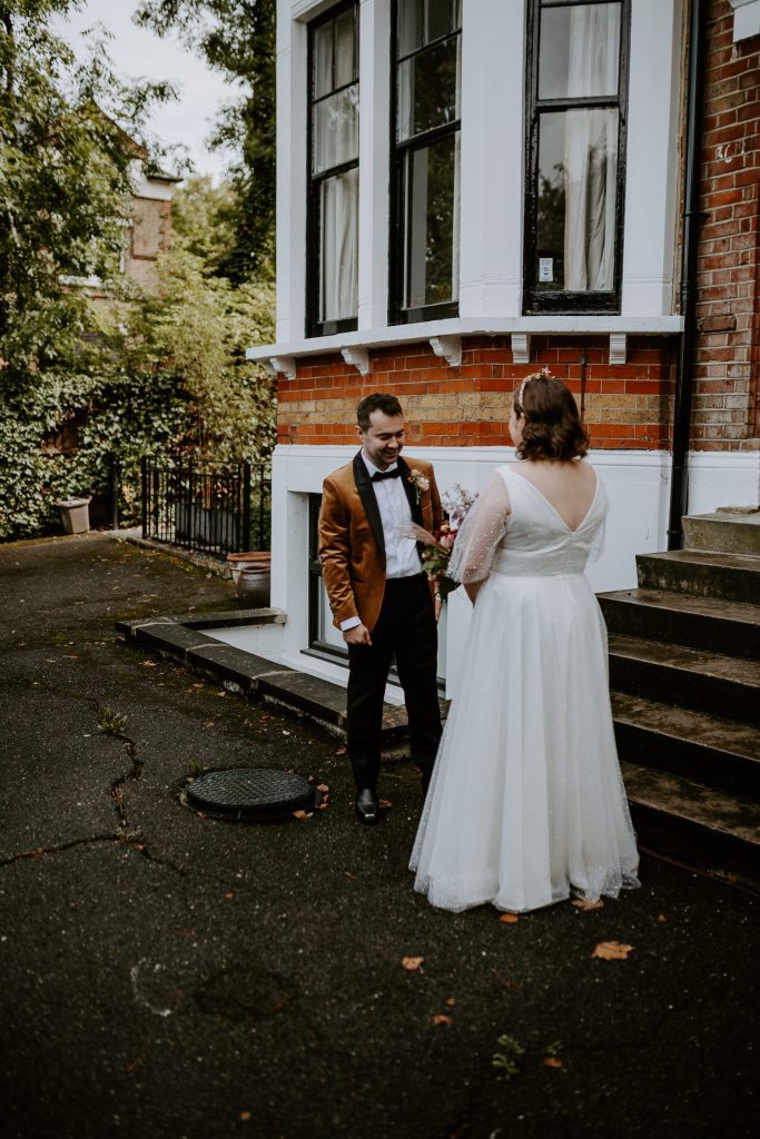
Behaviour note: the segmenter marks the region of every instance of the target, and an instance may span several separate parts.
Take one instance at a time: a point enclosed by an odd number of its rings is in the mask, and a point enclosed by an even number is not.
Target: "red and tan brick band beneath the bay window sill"
[[[340,355],[299,361],[295,380],[280,380],[280,443],[354,443],[356,407],[370,392],[392,392],[404,408],[411,445],[510,445],[507,420],[523,376],[548,366],[565,380],[596,448],[659,449],[668,445],[676,342],[629,337],[624,364],[608,363],[608,339],[533,337],[531,363],[515,364],[507,337],[463,343],[460,367],[434,355],[430,344],[370,352],[360,375]],[[588,363],[585,379],[581,349]]]

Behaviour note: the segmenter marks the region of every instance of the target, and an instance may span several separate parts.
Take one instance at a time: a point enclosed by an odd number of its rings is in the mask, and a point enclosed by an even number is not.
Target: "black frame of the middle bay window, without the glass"
[[[411,325],[425,320],[446,320],[459,316],[459,301],[443,301],[439,304],[426,304],[415,309],[403,308],[403,294],[407,279],[407,263],[404,259],[404,164],[406,156],[415,150],[422,150],[431,142],[436,142],[441,138],[461,132],[461,116],[434,126],[431,130],[415,134],[411,139],[399,141],[398,139],[398,113],[399,113],[399,73],[400,64],[411,59],[415,55],[426,51],[436,43],[444,43],[447,40],[458,35],[461,42],[461,21],[455,30],[449,26],[444,35],[439,35],[415,51],[399,56],[399,6],[403,0],[393,0],[391,10],[391,214],[389,227],[389,325]],[[460,6],[464,8],[464,2]],[[453,5],[451,7],[453,13]]]

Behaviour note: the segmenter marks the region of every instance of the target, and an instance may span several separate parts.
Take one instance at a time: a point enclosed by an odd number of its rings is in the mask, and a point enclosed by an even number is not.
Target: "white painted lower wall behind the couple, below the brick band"
[[[273,459],[271,604],[287,614],[285,625],[210,632],[219,640],[303,672],[340,683],[345,670],[304,655],[308,645],[308,495],[336,467],[349,462],[353,446],[278,446]],[[459,483],[468,491],[483,487],[492,470],[513,461],[509,448],[410,448],[409,460],[423,456],[435,465],[442,493]],[[664,550],[669,510],[670,456],[662,451],[594,451],[590,461],[610,499],[607,535],[602,558],[588,567],[597,592],[632,589],[636,555]],[[689,456],[689,513],[718,506],[757,506],[760,453],[693,452]],[[458,590],[447,603],[446,675],[448,695],[456,689],[457,663],[467,632],[469,603]],[[387,698],[401,695],[389,686]]]

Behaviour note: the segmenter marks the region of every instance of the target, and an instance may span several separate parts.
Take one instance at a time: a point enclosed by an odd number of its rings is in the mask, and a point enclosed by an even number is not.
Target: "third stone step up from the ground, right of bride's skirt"
[[[743,723],[760,723],[760,662],[610,637],[610,686],[631,696]]]

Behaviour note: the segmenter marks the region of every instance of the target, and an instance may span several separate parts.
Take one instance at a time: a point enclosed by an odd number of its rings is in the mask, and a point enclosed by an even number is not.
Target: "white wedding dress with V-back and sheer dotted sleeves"
[[[455,576],[474,607],[417,831],[415,888],[433,906],[521,912],[638,886],[612,726],[607,638],[583,574],[607,503],[571,531],[513,467],[471,509]]]

